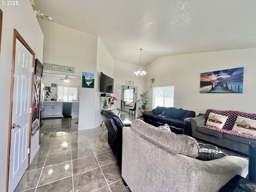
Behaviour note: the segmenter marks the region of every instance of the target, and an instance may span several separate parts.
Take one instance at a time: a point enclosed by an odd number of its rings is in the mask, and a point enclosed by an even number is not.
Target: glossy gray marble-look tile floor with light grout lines
[[[121,112],[123,120],[128,116]],[[77,121],[44,120],[41,147],[15,192],[130,192],[108,145],[108,131],[100,126],[78,131]]]

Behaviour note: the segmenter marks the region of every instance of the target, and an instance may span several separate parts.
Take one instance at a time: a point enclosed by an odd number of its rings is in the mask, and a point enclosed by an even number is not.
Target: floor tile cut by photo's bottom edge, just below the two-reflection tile
[[[39,186],[36,192],[73,192],[72,177]]]

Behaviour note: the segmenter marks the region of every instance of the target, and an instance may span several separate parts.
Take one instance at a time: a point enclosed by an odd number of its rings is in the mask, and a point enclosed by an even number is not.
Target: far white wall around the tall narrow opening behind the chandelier
[[[126,85],[126,80],[134,81],[134,86],[138,86],[137,100],[140,100],[140,94],[142,94],[146,90],[146,80],[148,78],[150,80],[150,78],[152,78],[153,76],[150,76],[150,74],[147,73],[145,77],[138,78],[134,75],[134,71],[138,71],[139,69],[140,69],[139,65],[115,60],[114,88],[116,88],[116,84]],[[146,67],[142,66],[142,70],[145,70],[147,72]],[[121,107],[121,100],[122,100],[121,93],[122,93],[122,89],[118,89],[117,94],[113,94],[118,99],[117,101],[115,101],[115,107]],[[118,105],[116,105],[116,103]],[[137,102],[136,114],[138,114],[138,108],[141,107],[141,105],[142,105],[142,102]]]

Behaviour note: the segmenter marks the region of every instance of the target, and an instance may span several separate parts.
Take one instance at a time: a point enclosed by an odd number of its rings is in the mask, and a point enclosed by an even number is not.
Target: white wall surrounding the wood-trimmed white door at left
[[[20,33],[36,58],[42,61],[44,36],[35,17],[30,1],[19,1],[18,6],[0,6],[3,11],[2,41],[0,52],[0,188],[4,190],[6,182],[6,159],[9,131],[10,85],[12,69],[12,51],[14,28]],[[31,154],[38,147],[39,131],[31,138]]]

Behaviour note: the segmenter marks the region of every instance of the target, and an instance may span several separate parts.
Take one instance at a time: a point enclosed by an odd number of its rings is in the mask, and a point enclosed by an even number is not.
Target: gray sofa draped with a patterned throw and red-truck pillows
[[[228,119],[221,130],[211,127],[206,128],[206,121],[210,112],[228,116]],[[192,136],[248,155],[249,142],[256,142],[256,137],[232,131],[238,116],[256,120],[256,114],[232,110],[223,111],[208,109],[202,116],[190,119]]]

